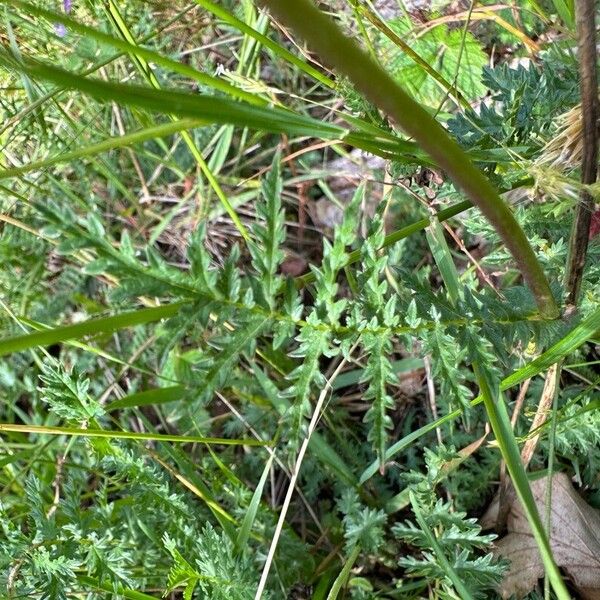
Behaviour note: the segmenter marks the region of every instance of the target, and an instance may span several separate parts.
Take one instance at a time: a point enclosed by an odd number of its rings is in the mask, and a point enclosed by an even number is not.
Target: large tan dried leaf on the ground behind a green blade
[[[531,484],[542,518],[548,478]],[[600,511],[573,489],[564,473],[552,478],[550,545],[554,559],[573,582],[583,600],[600,600]],[[515,500],[508,517],[508,534],[496,545],[496,554],[511,561],[501,584],[503,598],[530,592],[544,576],[544,567],[521,503]]]

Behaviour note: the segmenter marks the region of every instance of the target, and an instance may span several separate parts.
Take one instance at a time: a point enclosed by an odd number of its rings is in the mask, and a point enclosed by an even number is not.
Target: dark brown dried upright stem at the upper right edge
[[[594,0],[577,0],[575,12],[581,75],[581,115],[583,119],[583,159],[581,183],[595,183],[598,172],[598,77],[596,75],[596,14]],[[594,199],[586,190],[579,195],[569,242],[567,304],[576,306],[587,255]]]

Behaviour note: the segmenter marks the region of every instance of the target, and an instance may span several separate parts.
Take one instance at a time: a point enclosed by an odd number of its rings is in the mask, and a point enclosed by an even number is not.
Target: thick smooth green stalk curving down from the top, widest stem
[[[556,318],[558,306],[525,233],[494,186],[442,126],[310,0],[261,1],[331,67],[348,77],[448,173],[487,217],[514,256],[540,313],[546,318]]]

